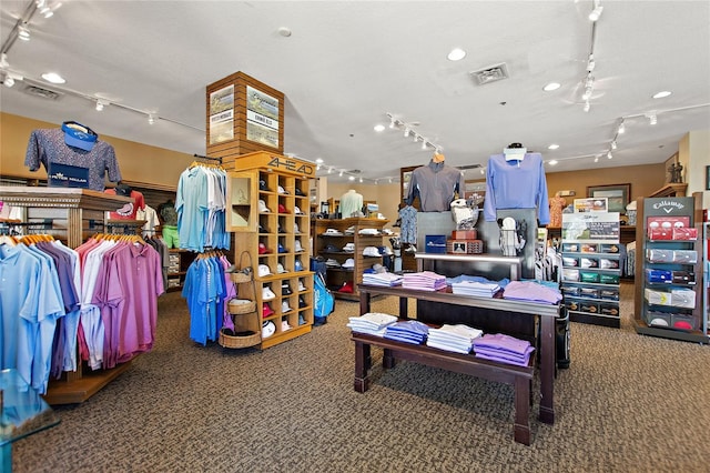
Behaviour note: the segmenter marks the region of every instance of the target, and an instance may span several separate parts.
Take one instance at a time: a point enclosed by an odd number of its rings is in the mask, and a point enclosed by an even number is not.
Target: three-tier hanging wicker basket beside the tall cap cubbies
[[[252,256],[246,251],[240,255],[239,269],[230,273],[234,284],[235,299],[227,302],[227,311],[234,323],[230,333],[225,328],[220,331],[219,343],[225,349],[245,349],[262,342],[262,324],[256,312],[256,289]],[[239,301],[240,303],[234,303]]]

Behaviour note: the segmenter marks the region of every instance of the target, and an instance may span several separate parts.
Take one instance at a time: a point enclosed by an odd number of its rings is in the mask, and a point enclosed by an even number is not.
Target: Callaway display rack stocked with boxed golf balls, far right
[[[708,343],[702,192],[637,201],[635,329]]]

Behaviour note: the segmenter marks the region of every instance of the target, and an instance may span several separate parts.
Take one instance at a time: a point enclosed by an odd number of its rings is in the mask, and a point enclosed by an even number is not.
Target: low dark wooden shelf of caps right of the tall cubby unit
[[[382,229],[388,222],[386,219],[357,217],[315,220],[314,251],[326,262],[325,282],[336,298],[359,300],[357,284],[363,282],[363,272],[383,262],[382,255],[363,252],[368,246],[383,245],[385,235]],[[374,229],[376,233],[361,234],[364,229]]]

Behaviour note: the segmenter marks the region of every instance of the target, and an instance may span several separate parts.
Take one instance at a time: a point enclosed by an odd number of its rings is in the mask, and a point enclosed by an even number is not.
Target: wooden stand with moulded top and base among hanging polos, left
[[[88,189],[27,187],[0,187],[0,200],[23,207],[28,222],[51,219],[52,228],[44,233],[65,241],[70,248],[79,246],[84,239],[101,231],[106,211],[131,202],[130,198]],[[128,370],[130,364],[129,361],[110,370],[88,371],[78,363],[77,371],[64,372],[62,380],[50,381],[44,400],[49,404],[84,402]]]

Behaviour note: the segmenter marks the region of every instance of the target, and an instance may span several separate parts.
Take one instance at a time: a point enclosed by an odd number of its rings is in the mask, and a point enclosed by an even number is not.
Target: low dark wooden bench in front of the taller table
[[[352,340],[355,342],[355,391],[363,393],[369,388],[368,371],[372,368],[371,346],[373,345],[384,349],[384,369],[394,368],[395,360],[407,360],[510,384],[515,389],[514,437],[516,442],[530,444],[530,384],[535,374],[535,356],[530,356],[528,366],[516,366],[477,359],[473,354],[447,352],[358,332],[353,332]]]

